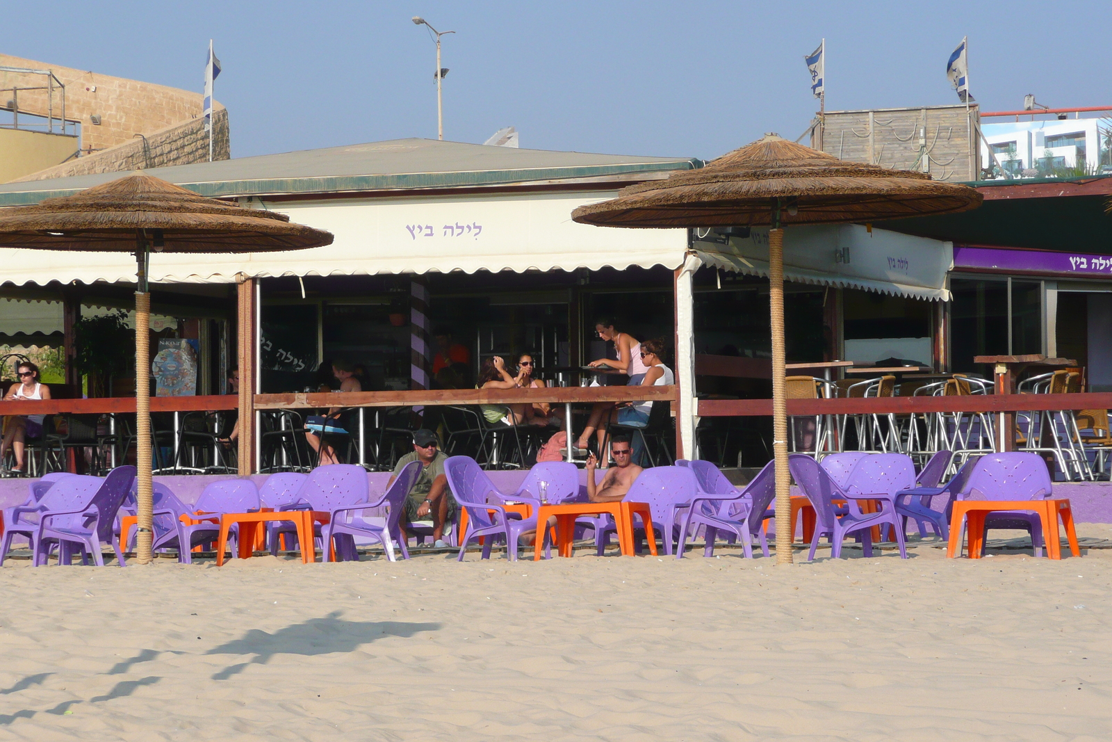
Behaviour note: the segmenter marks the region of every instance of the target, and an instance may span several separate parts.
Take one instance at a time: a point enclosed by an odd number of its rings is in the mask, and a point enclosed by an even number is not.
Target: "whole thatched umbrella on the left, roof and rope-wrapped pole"
[[[156,253],[266,253],[330,245],[327,231],[290,224],[274,211],[198,196],[135,174],[73,196],[0,209],[0,245],[46,250],[133,253],[136,289],[136,433],[138,557],[151,561],[150,250]],[[240,392],[240,414],[251,386]],[[249,406],[247,407],[249,409]]]

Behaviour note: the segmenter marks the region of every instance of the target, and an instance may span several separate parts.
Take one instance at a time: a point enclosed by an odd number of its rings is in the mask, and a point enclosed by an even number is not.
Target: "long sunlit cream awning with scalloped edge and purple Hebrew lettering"
[[[155,283],[235,283],[252,277],[424,274],[463,270],[617,269],[684,261],[686,229],[615,229],[572,221],[583,204],[616,191],[529,192],[260,204],[335,235],[328,247],[254,255],[157,254]],[[135,283],[127,254],[6,249],[0,281]]]

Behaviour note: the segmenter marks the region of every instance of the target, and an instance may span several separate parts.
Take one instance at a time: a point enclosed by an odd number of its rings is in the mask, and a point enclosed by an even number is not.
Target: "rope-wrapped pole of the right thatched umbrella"
[[[776,564],[792,563],[792,478],[787,471],[784,392],[784,230],[768,230],[768,304],[772,310],[772,449],[776,473]]]

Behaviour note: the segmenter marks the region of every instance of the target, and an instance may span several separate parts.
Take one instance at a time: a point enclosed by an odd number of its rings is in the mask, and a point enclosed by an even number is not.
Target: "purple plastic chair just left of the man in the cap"
[[[330,522],[325,526],[324,542],[326,548],[329,543],[334,544],[337,561],[359,561],[359,553],[355,547],[355,536],[377,538],[383,544],[386,558],[390,562],[397,561],[394,555],[394,544],[401,547],[403,558],[409,558],[409,548],[406,545],[406,540],[401,537],[400,522],[401,515],[405,513],[406,497],[409,496],[409,491],[417,477],[420,476],[420,462],[410,462],[406,464],[401,473],[394,479],[394,484],[387,487],[378,499],[368,501],[361,505],[337,507],[331,511]],[[369,517],[381,523],[374,523],[368,517],[358,515],[360,512],[378,507],[388,508],[386,517],[374,515]],[[327,560],[328,554],[326,553],[325,561]]]

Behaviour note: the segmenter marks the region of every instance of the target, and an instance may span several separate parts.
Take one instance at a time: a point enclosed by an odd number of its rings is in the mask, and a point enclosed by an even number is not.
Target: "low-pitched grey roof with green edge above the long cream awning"
[[[275,196],[344,191],[467,188],[687,170],[693,158],[557,152],[435,139],[393,139],[363,145],[242,157],[147,170],[203,196]],[[36,204],[121,177],[105,172],[0,185],[0,206]]]

